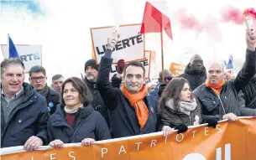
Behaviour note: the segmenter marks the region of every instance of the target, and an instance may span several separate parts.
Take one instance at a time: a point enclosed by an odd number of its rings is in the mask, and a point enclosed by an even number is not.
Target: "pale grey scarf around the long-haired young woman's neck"
[[[172,110],[175,110],[175,106],[173,103],[173,99],[170,99],[165,102],[165,106],[169,107]],[[187,116],[191,116],[191,111],[194,111],[197,106],[196,99],[193,99],[192,101],[180,101],[179,106],[180,107],[178,111],[184,113]]]

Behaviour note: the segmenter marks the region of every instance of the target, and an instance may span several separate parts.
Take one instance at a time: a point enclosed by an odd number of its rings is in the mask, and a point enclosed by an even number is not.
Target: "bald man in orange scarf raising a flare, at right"
[[[246,59],[243,69],[233,80],[225,81],[224,67],[212,63],[208,70],[208,79],[194,90],[194,95],[201,101],[202,114],[216,117],[217,120],[236,121],[241,115],[238,92],[248,85],[255,74],[256,27],[246,33]]]

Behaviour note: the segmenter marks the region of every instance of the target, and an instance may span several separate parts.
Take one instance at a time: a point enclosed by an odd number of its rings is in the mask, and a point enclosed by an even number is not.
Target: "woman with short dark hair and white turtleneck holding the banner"
[[[64,143],[74,142],[90,146],[94,141],[111,138],[107,121],[90,104],[91,93],[83,80],[65,80],[60,98],[61,104],[47,126],[50,147],[60,149]]]

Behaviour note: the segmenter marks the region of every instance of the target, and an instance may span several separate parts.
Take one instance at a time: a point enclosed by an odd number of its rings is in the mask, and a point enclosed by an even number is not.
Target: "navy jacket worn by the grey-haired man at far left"
[[[1,107],[1,147],[23,146],[35,136],[47,142],[46,126],[49,111],[42,95],[33,86],[24,83],[24,99],[12,111],[9,121],[4,121]]]

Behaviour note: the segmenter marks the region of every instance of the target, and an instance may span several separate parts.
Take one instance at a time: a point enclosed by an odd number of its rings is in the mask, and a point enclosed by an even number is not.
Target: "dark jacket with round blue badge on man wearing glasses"
[[[47,86],[49,87],[49,86]],[[45,99],[47,101],[48,110],[50,111],[50,115],[54,114],[56,111],[56,106],[60,104],[60,94],[56,92],[55,90],[52,90],[49,87],[49,92],[45,96]],[[53,104],[53,106],[51,106]]]

